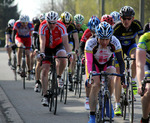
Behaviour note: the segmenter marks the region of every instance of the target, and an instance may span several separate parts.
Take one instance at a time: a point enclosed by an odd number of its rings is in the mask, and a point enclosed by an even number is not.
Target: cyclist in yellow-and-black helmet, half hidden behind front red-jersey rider
[[[69,45],[72,51],[78,51],[79,49],[79,38],[78,38],[78,31],[74,23],[72,23],[73,17],[69,12],[64,12],[61,14],[61,21],[65,24],[68,33]],[[74,67],[76,63],[75,54],[73,54],[73,61],[71,62],[69,68],[69,81],[71,85],[69,86],[69,90],[73,91],[73,82],[72,82],[72,75],[74,74]]]

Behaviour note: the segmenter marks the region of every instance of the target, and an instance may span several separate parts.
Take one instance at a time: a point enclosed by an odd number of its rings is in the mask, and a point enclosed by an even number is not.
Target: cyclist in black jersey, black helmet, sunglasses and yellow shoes
[[[121,21],[114,25],[114,35],[120,40],[123,53],[131,58],[135,58],[136,51],[136,35],[141,36],[143,34],[143,28],[138,20],[134,20],[134,9],[130,6],[124,6],[120,9]],[[132,86],[134,95],[137,94],[137,85],[135,82],[136,77],[136,62],[131,63],[132,69]],[[119,66],[116,63],[116,70],[119,73]],[[121,84],[120,78],[115,77],[115,114],[120,115],[120,96],[121,96]]]

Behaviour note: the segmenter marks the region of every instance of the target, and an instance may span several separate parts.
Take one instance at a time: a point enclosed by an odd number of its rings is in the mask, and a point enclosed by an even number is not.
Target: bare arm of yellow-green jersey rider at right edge
[[[145,50],[136,50],[136,74],[139,87],[141,87],[141,81],[144,79],[144,66],[146,62],[146,51]]]

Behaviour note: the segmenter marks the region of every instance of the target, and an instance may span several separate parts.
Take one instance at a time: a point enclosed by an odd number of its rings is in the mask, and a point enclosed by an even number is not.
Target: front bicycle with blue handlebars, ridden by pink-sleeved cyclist
[[[112,103],[111,103],[111,95],[108,90],[108,76],[124,76],[123,74],[116,73],[107,73],[105,71],[101,71],[100,73],[92,73],[89,75],[89,84],[91,84],[92,76],[100,75],[100,91],[98,94],[98,110],[96,111],[96,123],[104,123],[105,121],[109,121],[112,123]],[[109,119],[106,119],[106,102],[109,104]]]

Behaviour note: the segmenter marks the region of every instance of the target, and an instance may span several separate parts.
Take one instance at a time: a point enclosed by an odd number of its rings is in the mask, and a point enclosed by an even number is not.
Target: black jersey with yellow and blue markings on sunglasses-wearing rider
[[[135,38],[137,35],[141,36],[143,34],[142,25],[138,20],[134,20],[128,30],[126,30],[122,22],[118,22],[117,24],[115,24],[113,29],[114,36],[119,39],[123,51],[127,46],[136,43]]]

